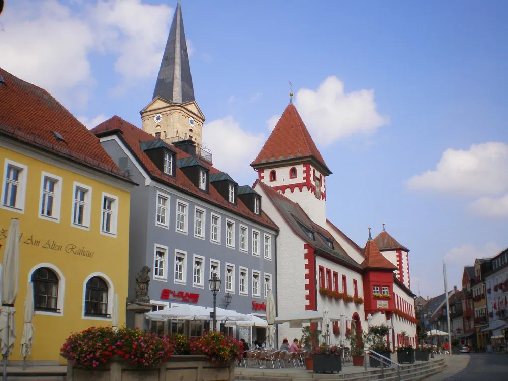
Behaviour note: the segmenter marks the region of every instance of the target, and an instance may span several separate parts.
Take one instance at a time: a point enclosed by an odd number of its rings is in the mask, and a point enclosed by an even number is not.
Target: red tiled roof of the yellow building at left
[[[130,181],[99,140],[49,92],[1,68],[0,75],[5,82],[0,84],[0,133]]]

